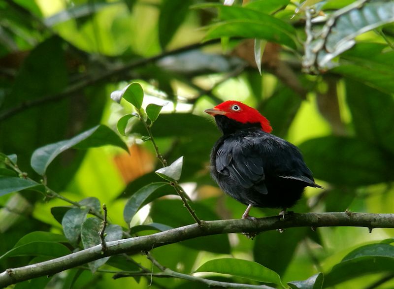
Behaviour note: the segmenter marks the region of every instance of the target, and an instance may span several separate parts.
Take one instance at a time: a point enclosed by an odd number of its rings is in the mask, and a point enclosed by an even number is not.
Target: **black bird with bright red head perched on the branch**
[[[280,208],[284,219],[305,187],[323,189],[298,148],[271,134],[258,110],[228,100],[204,112],[223,134],[211,151],[211,176],[223,192],[247,205],[242,219],[255,220],[249,215],[252,207]]]

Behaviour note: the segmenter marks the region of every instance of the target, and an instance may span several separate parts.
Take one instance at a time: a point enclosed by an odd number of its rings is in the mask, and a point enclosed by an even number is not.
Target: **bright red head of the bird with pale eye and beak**
[[[225,115],[237,122],[246,123],[260,123],[263,131],[271,132],[272,128],[269,121],[261,115],[261,113],[240,101],[228,100],[215,106],[213,109],[205,110],[210,115]]]

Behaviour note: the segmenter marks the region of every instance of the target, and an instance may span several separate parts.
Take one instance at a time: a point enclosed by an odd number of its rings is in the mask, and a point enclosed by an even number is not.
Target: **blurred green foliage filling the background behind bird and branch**
[[[338,16],[332,30],[349,38],[336,45],[343,39],[334,35],[319,49],[311,33],[325,22],[305,31],[308,5],[330,16],[354,1],[305,1],[293,18],[296,1],[241,2],[0,0],[1,272],[97,244],[102,203],[108,240],[122,229],[127,237],[194,223],[154,173],[162,164],[147,127],[168,164],[183,156],[179,183],[200,219],[240,218],[244,206],[224,196],[207,169],[219,132],[203,110],[229,99],[257,107],[325,186],[308,189],[294,211],[393,213],[393,2],[362,5],[363,13],[383,5],[386,14],[373,19],[355,10]],[[247,37],[272,41],[262,76]],[[129,83],[138,91],[114,102],[111,93]],[[292,228],[254,240],[200,237],[151,253],[179,273],[227,274],[204,275],[212,280],[389,289],[393,237],[393,229]],[[206,288],[182,279],[111,279],[115,270],[142,267],[158,270],[143,255],[113,256],[13,288]]]

